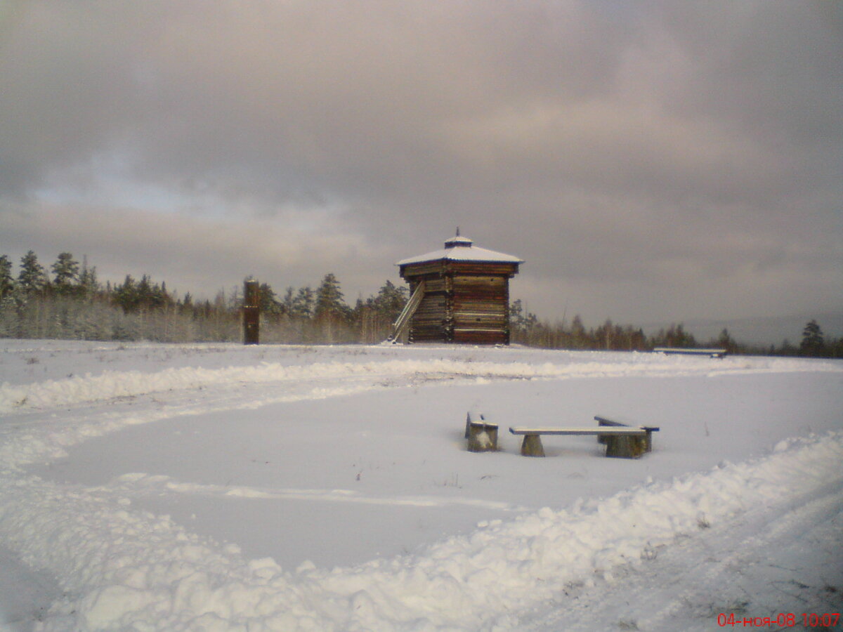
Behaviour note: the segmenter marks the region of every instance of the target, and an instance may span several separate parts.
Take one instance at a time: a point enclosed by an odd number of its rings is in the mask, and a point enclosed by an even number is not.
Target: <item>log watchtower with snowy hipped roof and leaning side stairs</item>
[[[441,250],[399,261],[410,300],[390,340],[406,330],[409,342],[509,344],[509,280],[524,260],[448,239]]]

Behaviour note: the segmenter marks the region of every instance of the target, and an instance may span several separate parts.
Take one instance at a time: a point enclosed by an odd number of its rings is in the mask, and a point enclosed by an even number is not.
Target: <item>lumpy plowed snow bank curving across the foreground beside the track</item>
[[[566,584],[638,565],[676,538],[751,507],[843,484],[843,435],[781,442],[751,463],[652,483],[561,511],[481,523],[425,552],[282,570],[168,517],[115,507],[35,477],[3,480],[0,532],[68,598],[45,630],[445,630],[511,628]],[[154,622],[151,623],[151,622]]]

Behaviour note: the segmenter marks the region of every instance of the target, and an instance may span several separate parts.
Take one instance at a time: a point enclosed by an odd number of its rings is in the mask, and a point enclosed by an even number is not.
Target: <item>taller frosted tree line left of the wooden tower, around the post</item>
[[[71,253],[49,268],[29,251],[17,276],[0,255],[0,337],[72,340],[205,342],[242,340],[241,287],[213,300],[177,295],[148,275],[99,282],[95,267]],[[287,287],[278,295],[259,287],[260,340],[277,343],[372,343],[385,340],[407,300],[405,287],[385,281],[350,307],[333,273],[316,287]]]

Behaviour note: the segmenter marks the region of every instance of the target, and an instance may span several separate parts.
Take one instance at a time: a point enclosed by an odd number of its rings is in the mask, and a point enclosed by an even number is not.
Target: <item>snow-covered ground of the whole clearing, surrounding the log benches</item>
[[[0,629],[666,632],[840,613],[843,362],[0,347]],[[465,450],[468,410],[500,424],[499,452]],[[545,437],[547,458],[525,458],[506,431],[594,415],[660,426],[653,452]]]

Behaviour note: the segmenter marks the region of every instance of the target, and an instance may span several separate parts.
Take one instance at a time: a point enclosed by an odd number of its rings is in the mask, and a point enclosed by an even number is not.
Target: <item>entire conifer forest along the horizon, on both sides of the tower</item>
[[[287,344],[369,344],[386,340],[408,298],[406,287],[385,281],[373,296],[346,302],[340,280],[329,273],[316,287],[286,287],[277,293],[260,283],[260,341]],[[97,278],[94,266],[71,253],[58,254],[46,268],[29,251],[15,274],[0,255],[0,337],[155,342],[236,342],[243,339],[242,286],[217,292],[213,300],[177,296],[166,282],[126,275],[121,283]],[[733,340],[727,329],[717,339],[695,340],[683,324],[646,335],[642,328],[607,320],[587,327],[579,316],[550,323],[510,305],[513,343],[572,350],[649,351],[654,347],[717,347],[733,354],[843,357],[843,338],[826,338],[811,320],[797,345],[758,347]]]

